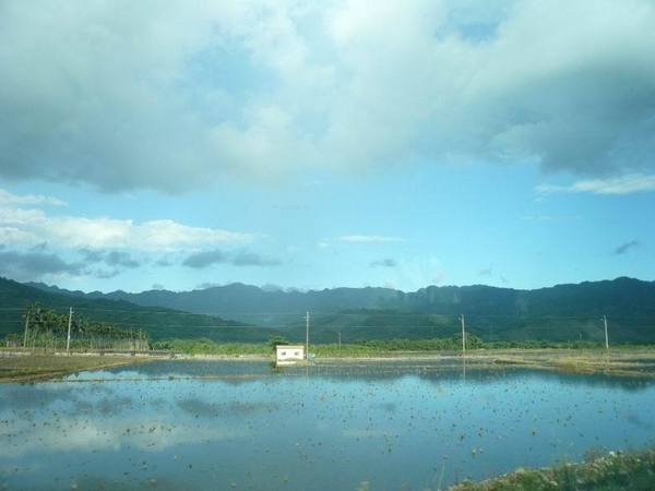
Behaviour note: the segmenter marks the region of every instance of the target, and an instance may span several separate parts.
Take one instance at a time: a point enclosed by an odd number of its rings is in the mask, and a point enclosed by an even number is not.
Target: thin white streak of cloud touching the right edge
[[[538,193],[633,194],[655,191],[655,175],[630,173],[608,179],[588,179],[571,185],[541,184]]]

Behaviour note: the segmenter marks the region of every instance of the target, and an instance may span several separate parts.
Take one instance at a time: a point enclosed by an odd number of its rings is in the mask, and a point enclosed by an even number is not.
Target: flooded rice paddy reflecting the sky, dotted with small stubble
[[[422,490],[655,442],[655,382],[157,361],[0,385],[0,488]]]

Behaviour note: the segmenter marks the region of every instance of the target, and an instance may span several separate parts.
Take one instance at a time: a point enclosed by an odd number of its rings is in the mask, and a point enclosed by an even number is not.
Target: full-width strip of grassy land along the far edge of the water
[[[310,345],[317,363],[347,363],[370,360],[451,360],[461,362],[461,354],[450,339],[390,340],[366,344]],[[164,351],[144,352],[148,359],[168,358],[169,352],[187,357],[273,359],[271,343],[215,343],[210,339],[172,339],[155,346]],[[15,354],[15,351],[13,351]],[[12,355],[0,349],[0,355]],[[82,370],[132,363],[146,357],[75,355],[26,355],[0,357],[0,380],[28,380],[56,376]],[[575,373],[606,373],[612,375],[655,378],[655,349],[622,346],[609,354],[600,348],[501,348],[481,347],[466,354],[467,368],[489,369],[521,367]]]

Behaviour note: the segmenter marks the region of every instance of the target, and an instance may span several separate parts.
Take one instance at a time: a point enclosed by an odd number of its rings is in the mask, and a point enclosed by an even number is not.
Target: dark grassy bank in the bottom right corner
[[[655,489],[655,450],[609,453],[580,464],[519,469],[481,482],[463,482],[450,491],[645,491]]]

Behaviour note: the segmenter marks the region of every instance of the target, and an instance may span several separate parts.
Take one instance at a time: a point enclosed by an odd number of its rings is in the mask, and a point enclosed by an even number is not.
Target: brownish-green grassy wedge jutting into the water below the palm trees
[[[145,361],[141,357],[126,356],[53,356],[31,355],[0,358],[0,382],[23,382],[50,379],[84,370],[118,367]]]

